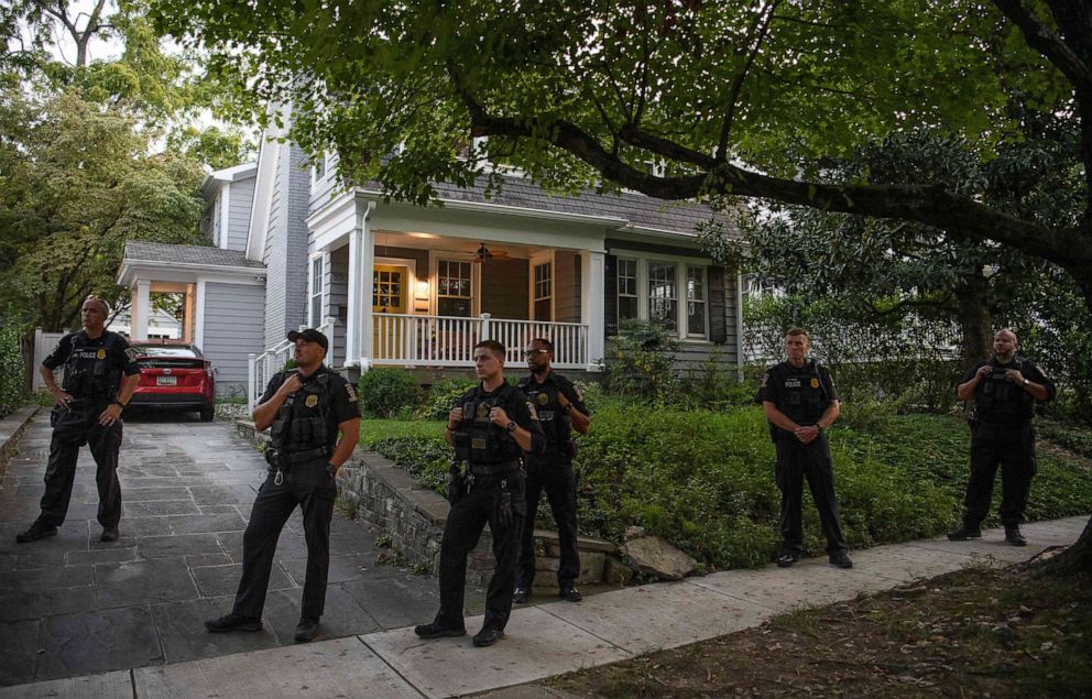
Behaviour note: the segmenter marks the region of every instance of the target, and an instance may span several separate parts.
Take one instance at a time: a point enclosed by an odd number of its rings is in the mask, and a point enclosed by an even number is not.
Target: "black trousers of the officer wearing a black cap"
[[[242,537],[242,579],[236,593],[234,612],[261,616],[273,570],[273,555],[284,523],[298,504],[304,511],[304,539],[307,542],[307,575],[299,610],[302,619],[318,619],[326,608],[326,580],[330,569],[330,520],[337,482],[326,470],[326,460],[293,465],[277,485],[270,473],[250,511],[250,524]]]

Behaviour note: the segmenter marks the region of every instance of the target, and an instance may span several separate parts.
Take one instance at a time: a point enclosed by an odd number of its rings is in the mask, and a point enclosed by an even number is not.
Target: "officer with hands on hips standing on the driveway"
[[[50,465],[45,469],[42,513],[29,529],[15,536],[20,544],[53,536],[64,524],[76,478],[76,458],[85,444],[95,459],[98,521],[102,525],[99,540],[118,539],[121,411],[136,390],[140,368],[129,341],[106,329],[109,316],[110,306],[106,301],[88,296],[79,310],[84,329],[61,338],[42,362],[42,380],[56,403],[50,416],[53,439],[50,441]],[[65,371],[62,386],[58,386],[53,371],[61,365]]]

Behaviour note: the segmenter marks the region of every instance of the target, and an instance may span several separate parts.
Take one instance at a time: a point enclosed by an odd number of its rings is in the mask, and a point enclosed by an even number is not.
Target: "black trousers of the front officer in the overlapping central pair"
[[[515,571],[520,559],[520,532],[523,529],[526,502],[523,471],[515,469],[504,476],[476,476],[470,492],[451,507],[444,525],[440,542],[440,611],[436,623],[445,629],[463,629],[463,594],[467,587],[467,557],[481,532],[489,523],[493,535],[493,577],[485,591],[485,621],[483,629],[503,631],[512,613],[512,594]],[[503,526],[498,521],[502,492],[510,493],[512,523]]]

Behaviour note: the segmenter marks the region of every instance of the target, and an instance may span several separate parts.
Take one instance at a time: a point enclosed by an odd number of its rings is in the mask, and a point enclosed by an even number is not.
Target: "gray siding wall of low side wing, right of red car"
[[[263,290],[244,284],[205,285],[205,340],[201,351],[216,368],[218,395],[247,391],[248,354],[262,346]]]

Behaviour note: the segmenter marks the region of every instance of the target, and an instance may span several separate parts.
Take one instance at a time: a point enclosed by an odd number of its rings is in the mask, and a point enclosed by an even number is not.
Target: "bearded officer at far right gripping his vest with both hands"
[[[1001,465],[1001,521],[1005,540],[1026,546],[1020,518],[1035,474],[1036,401],[1055,397],[1055,384],[1034,363],[1018,357],[1016,334],[1005,328],[993,336],[993,357],[971,368],[956,394],[974,396],[971,419],[971,477],[963,499],[963,524],[948,533],[962,542],[982,536],[982,521],[990,511],[993,479]]]

